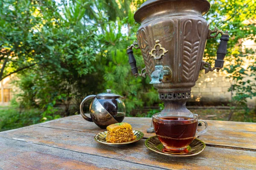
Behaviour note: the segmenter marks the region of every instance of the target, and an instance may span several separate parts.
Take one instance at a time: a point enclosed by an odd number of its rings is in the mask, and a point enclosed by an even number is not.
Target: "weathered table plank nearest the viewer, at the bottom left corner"
[[[12,139],[0,138],[0,169],[3,170],[120,170],[157,167],[77,153]]]

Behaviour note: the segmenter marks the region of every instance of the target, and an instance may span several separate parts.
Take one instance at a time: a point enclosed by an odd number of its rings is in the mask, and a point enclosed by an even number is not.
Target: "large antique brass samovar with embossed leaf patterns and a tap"
[[[137,42],[127,48],[131,71],[135,77],[151,77],[150,84],[157,88],[165,111],[190,111],[186,101],[191,88],[198,80],[199,71],[219,71],[223,68],[229,34],[215,27],[202,17],[209,11],[207,0],[147,0],[135,12],[134,20],[141,26]],[[203,61],[204,49],[209,38],[221,34],[215,67]],[[145,68],[138,73],[132,48],[140,49]],[[153,132],[153,128],[148,132]]]

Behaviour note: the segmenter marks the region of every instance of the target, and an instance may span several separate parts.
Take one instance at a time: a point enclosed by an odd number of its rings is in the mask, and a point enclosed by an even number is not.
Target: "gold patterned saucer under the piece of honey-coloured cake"
[[[107,142],[107,141],[106,141],[107,131],[96,134],[96,136],[94,137],[94,139],[95,139],[97,142],[99,142],[99,143],[108,144],[109,146],[125,146],[125,145],[127,145],[127,144],[130,144],[130,143],[134,143],[134,142],[139,141],[139,140],[142,139],[143,136],[144,136],[144,134],[143,134],[142,132],[138,131],[138,130],[133,130],[133,133],[134,133],[134,135],[136,136],[136,139],[134,139],[133,141],[130,141],[130,142],[121,142],[121,143],[111,143],[111,142]]]

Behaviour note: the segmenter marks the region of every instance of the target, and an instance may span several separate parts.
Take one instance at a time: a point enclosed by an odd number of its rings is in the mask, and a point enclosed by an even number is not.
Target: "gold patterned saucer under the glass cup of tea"
[[[163,144],[160,142],[157,136],[152,136],[145,141],[145,146],[162,155],[170,156],[170,157],[188,157],[188,156],[195,156],[201,153],[205,148],[205,143],[197,138],[195,138],[191,144],[187,147],[187,152],[181,153],[171,153],[163,151],[164,147]]]

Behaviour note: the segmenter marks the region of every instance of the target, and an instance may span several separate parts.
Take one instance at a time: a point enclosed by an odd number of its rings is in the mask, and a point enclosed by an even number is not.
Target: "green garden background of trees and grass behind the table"
[[[85,96],[106,89],[124,96],[126,116],[159,112],[157,90],[149,77],[131,74],[126,54],[139,27],[133,14],[144,1],[0,0],[0,81],[1,87],[6,79],[14,87],[10,105],[0,106],[0,131],[79,114]],[[201,105],[190,106],[201,119],[256,122],[256,110],[247,103],[252,99],[255,107],[256,51],[243,45],[256,41],[255,0],[209,2],[204,18],[210,28],[230,34],[221,79],[229,82],[232,96],[228,102],[202,102],[200,83],[215,83],[206,77],[192,88],[196,96],[188,105]],[[205,61],[214,62],[219,37],[207,41]],[[141,70],[143,57],[139,50],[134,54]]]

